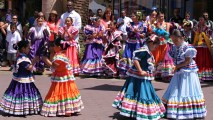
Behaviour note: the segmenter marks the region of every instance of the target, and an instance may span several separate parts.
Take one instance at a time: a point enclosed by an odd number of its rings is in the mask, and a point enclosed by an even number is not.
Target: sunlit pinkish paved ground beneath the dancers
[[[7,71],[9,68],[0,68],[0,97],[8,87],[12,73]],[[81,92],[85,109],[77,116],[72,117],[43,117],[40,115],[32,115],[23,117],[5,116],[0,113],[0,120],[129,120],[118,114],[118,110],[111,107],[111,104],[121,89],[124,80],[117,79],[97,79],[97,78],[80,78],[77,77],[76,83]],[[50,87],[50,78],[48,75],[36,76],[35,84],[39,88],[44,98]],[[162,97],[168,83],[153,81],[159,97]],[[203,92],[206,99],[208,115],[205,120],[213,120],[213,82],[202,83]]]

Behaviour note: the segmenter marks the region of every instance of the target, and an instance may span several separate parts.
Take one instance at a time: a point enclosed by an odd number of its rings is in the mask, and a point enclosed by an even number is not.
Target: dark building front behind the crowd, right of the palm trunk
[[[132,11],[141,11],[147,15],[156,8],[165,12],[166,20],[173,16],[173,10],[179,8],[181,16],[185,16],[185,12],[191,13],[191,18],[198,19],[203,11],[208,11],[210,18],[213,19],[213,9],[211,8],[212,0],[90,0],[89,7],[96,13],[98,7],[105,10],[106,7],[112,7],[116,17],[120,16],[121,10],[125,9],[127,15],[130,16]],[[95,4],[95,5],[91,5]]]

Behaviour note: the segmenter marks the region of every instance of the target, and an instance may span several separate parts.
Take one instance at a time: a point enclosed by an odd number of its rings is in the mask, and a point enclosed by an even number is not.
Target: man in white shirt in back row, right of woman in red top
[[[123,33],[123,41],[122,41],[122,48],[125,48],[125,40],[127,39],[127,31],[126,26],[132,22],[132,19],[126,16],[126,11],[121,11],[121,18],[117,20],[118,23],[118,30]]]

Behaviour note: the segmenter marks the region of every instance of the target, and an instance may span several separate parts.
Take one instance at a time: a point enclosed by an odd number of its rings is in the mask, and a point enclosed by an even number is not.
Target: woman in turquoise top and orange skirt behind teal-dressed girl
[[[160,46],[153,51],[153,55],[156,60],[156,78],[162,78],[164,81],[168,81],[173,76],[172,68],[173,60],[169,56],[168,51],[172,45],[172,41],[169,38],[169,29],[170,24],[165,22],[164,13],[158,12],[157,14],[157,23],[155,28],[152,29],[152,32],[161,37]]]

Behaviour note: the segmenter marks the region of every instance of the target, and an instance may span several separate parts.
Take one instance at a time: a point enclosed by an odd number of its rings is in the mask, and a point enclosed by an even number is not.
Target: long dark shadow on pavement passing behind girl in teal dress
[[[94,86],[91,88],[84,88],[87,90],[104,90],[104,91],[120,91],[122,86],[117,86],[117,85],[109,85],[109,84],[103,84],[99,86]],[[155,88],[155,91],[159,91],[162,89]]]

